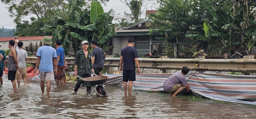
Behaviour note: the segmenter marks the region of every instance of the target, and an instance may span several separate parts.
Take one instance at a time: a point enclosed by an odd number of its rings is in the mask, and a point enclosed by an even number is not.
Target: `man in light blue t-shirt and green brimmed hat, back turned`
[[[51,81],[54,80],[54,74],[57,73],[57,53],[56,50],[50,46],[51,38],[46,36],[42,39],[44,46],[41,46],[37,49],[36,52],[36,68],[34,73],[36,73],[38,64],[39,66],[39,75],[40,75],[40,86],[42,90],[42,94],[44,94],[44,82],[47,81],[46,86],[46,95],[49,95],[51,90]],[[50,60],[52,59],[52,60]],[[54,66],[54,73],[53,73],[53,66]]]

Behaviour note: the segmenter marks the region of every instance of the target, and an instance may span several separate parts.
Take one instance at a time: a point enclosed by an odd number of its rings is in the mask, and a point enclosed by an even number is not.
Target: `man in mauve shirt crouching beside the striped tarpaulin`
[[[187,80],[185,75],[189,72],[189,68],[184,66],[181,69],[181,72],[176,72],[172,76],[170,76],[164,82],[164,91],[166,92],[175,92],[172,97],[176,97],[176,95],[181,92],[185,87],[189,93],[191,93],[189,86],[187,85]]]

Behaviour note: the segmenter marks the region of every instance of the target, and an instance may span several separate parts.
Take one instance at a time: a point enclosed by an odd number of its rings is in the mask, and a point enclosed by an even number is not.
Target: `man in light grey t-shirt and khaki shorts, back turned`
[[[27,54],[26,50],[22,49],[23,42],[19,41],[17,43],[17,46],[18,46],[17,58],[18,58],[18,65],[20,67],[20,71],[17,70],[15,78],[17,80],[18,86],[20,86],[20,75],[21,75],[21,77],[23,79],[23,82],[24,82],[23,85],[26,84],[26,80],[27,80],[26,61],[28,60],[28,54]]]

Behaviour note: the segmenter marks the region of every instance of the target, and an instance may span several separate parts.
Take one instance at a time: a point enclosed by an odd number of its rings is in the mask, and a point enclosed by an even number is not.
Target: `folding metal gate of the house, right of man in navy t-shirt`
[[[137,49],[139,56],[144,56],[144,54],[149,54],[149,44],[150,44],[150,36],[142,35],[142,36],[134,36],[135,39],[135,48]]]

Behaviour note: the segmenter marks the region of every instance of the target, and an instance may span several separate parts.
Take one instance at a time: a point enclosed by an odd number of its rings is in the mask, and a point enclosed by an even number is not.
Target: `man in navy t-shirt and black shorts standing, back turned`
[[[121,58],[120,58],[120,68],[119,71],[123,69],[123,89],[125,95],[127,94],[127,82],[128,84],[128,94],[131,95],[131,89],[133,85],[133,81],[136,80],[135,78],[135,64],[138,68],[138,73],[141,73],[139,62],[138,62],[138,52],[134,46],[134,39],[128,40],[128,46],[121,50]],[[123,68],[122,68],[123,64]]]

